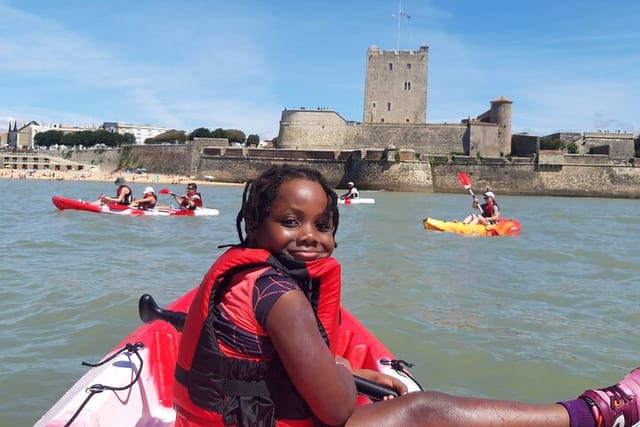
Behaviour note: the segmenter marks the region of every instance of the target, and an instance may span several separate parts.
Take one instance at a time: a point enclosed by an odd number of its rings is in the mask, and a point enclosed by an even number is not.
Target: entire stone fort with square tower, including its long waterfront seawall
[[[633,134],[556,133],[547,137],[574,144],[577,153],[541,150],[538,136],[512,135],[512,102],[502,96],[475,118],[427,123],[428,53],[427,46],[369,48],[362,122],[331,110],[287,109],[275,148],[195,138],[103,154],[74,150],[70,159],[221,182],[246,182],[273,164],[301,163],[320,170],[336,188],[354,181],[361,190],[451,193],[460,192],[457,174],[464,171],[476,188],[501,194],[640,198]]]

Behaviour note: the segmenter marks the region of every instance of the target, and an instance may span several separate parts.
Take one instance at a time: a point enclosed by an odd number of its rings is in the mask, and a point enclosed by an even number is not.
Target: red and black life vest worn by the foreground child
[[[277,356],[258,361],[225,356],[213,328],[214,307],[224,290],[247,282],[252,288],[271,268],[300,284],[335,354],[340,318],[340,264],[335,258],[303,263],[276,258],[264,249],[231,248],[211,266],[187,314],[173,387],[176,425],[313,425],[309,407]]]

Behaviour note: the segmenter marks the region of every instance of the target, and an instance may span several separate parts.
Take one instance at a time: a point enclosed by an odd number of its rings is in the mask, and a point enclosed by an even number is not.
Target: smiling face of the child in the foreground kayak
[[[297,261],[313,261],[333,253],[333,220],[329,198],[317,182],[285,181],[271,213],[255,231],[256,247]]]

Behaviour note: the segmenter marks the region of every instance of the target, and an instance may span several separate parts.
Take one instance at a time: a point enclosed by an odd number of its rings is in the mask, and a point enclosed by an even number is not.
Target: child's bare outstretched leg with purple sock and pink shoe
[[[532,405],[425,391],[360,406],[347,426],[640,426],[640,368],[620,382],[561,404]]]

